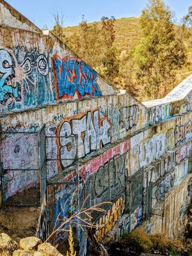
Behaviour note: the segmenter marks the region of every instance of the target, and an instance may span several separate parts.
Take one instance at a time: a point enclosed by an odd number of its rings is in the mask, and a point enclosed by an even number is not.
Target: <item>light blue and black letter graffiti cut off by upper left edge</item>
[[[9,99],[21,100],[21,86],[14,82],[15,61],[12,55],[0,49],[0,103],[5,105]],[[9,104],[12,102],[9,102]]]

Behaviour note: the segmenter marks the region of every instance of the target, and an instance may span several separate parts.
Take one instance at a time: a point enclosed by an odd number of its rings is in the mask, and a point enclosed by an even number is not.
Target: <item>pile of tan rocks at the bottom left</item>
[[[26,237],[16,243],[7,234],[0,234],[0,256],[63,256],[50,243],[37,237]]]

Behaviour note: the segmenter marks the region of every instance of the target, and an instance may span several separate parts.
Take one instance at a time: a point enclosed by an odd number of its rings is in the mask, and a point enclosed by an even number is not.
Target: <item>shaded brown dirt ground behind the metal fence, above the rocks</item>
[[[15,240],[36,236],[40,215],[39,198],[37,188],[26,189],[8,198],[0,210],[0,232],[5,232]]]

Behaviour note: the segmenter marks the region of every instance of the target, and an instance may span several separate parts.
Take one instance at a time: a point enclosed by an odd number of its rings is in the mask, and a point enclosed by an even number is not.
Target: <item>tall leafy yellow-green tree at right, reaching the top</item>
[[[149,0],[140,24],[142,38],[133,52],[141,92],[149,99],[163,97],[185,62],[185,49],[172,23],[172,12],[161,0]]]

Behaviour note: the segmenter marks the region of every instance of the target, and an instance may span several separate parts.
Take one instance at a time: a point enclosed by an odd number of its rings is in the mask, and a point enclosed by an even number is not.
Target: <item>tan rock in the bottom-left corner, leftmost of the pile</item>
[[[12,252],[19,249],[19,244],[17,244],[10,236],[1,233],[0,234],[0,256],[12,255]],[[4,254],[2,254],[4,253]]]

